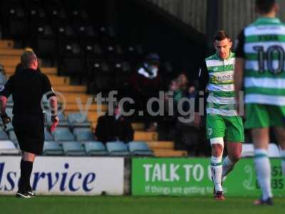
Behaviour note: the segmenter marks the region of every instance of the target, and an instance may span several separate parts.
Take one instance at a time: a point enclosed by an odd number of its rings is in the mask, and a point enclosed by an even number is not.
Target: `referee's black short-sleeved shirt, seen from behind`
[[[47,93],[47,98],[56,96],[46,74],[31,68],[12,75],[0,91],[0,96],[6,98],[12,94],[14,115],[40,115],[43,112],[41,108],[43,95]]]

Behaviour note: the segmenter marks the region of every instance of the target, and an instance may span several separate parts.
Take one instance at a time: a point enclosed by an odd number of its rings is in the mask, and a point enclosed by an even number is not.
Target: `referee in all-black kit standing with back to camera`
[[[22,151],[21,178],[16,197],[31,198],[35,196],[30,185],[33,161],[36,155],[43,153],[45,115],[41,108],[41,99],[45,93],[48,94],[53,126],[58,124],[57,100],[48,77],[36,71],[38,59],[33,51],[24,52],[21,64],[24,69],[12,75],[6,85],[0,89],[0,107],[1,118],[5,125],[11,121],[6,114],[6,101],[10,95],[13,96],[12,124]]]

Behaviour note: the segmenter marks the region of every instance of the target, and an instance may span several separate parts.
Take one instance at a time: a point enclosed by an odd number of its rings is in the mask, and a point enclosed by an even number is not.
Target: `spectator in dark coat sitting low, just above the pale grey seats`
[[[106,112],[104,116],[98,118],[95,128],[95,136],[98,141],[103,143],[108,141],[128,143],[133,141],[133,135],[133,127],[130,121],[121,115],[118,104],[114,106],[113,113]]]

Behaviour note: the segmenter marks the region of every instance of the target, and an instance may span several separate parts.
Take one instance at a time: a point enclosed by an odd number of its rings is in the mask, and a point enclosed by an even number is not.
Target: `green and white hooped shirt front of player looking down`
[[[234,62],[235,55],[232,52],[224,60],[219,58],[217,54],[206,58],[209,73],[207,113],[237,116],[234,92]]]

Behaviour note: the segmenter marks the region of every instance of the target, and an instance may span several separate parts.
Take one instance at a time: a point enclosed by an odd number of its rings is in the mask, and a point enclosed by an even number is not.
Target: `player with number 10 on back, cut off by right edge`
[[[274,127],[282,148],[285,172],[285,24],[276,18],[275,0],[256,0],[259,18],[239,35],[234,82],[244,87],[245,128],[251,129],[254,163],[262,197],[256,205],[272,205],[271,168],[268,157],[269,127]]]

